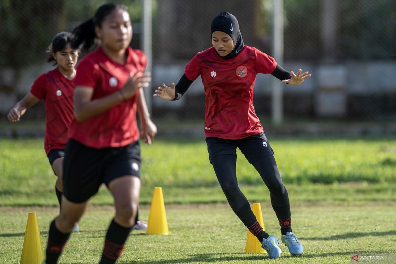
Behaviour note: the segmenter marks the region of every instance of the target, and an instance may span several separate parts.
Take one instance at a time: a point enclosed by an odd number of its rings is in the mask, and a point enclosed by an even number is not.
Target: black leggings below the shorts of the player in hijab
[[[245,226],[256,220],[250,205],[238,187],[235,172],[237,157],[221,154],[212,158],[212,165],[228,203]],[[271,196],[271,205],[278,219],[290,218],[289,196],[283,185],[274,155],[258,159],[252,165],[258,171]]]

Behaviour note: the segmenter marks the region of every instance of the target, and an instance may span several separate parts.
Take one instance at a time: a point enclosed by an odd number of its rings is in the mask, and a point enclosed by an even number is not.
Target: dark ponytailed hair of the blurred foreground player
[[[105,3],[96,10],[95,15],[87,21],[81,23],[73,30],[72,49],[79,48],[83,45],[84,50],[88,50],[95,41],[95,27],[101,27],[103,20],[116,9],[128,11],[128,8],[122,4]]]

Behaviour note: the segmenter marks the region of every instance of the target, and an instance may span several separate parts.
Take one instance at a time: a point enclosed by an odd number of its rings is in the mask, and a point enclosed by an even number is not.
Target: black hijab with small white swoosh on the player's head
[[[230,35],[234,41],[234,49],[223,59],[231,59],[235,57],[244,48],[241,32],[239,31],[238,20],[235,16],[228,12],[218,14],[212,21],[211,31],[221,31]],[[216,52],[217,53],[217,52]],[[218,53],[217,53],[218,54]]]

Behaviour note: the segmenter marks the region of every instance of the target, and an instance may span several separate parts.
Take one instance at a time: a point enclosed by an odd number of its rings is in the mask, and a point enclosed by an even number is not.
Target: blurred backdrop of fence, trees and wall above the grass
[[[7,112],[34,80],[53,68],[47,46],[60,31],[90,18],[102,0],[0,0],[0,135],[44,133],[42,103],[18,124]],[[395,0],[121,0],[133,22],[133,48],[148,54],[153,81],[146,98],[159,135],[203,137],[205,98],[198,78],[183,100],[152,99],[177,83],[185,65],[211,46],[210,23],[234,14],[245,45],[289,71],[312,73],[300,86],[258,75],[254,106],[273,134],[396,134]],[[178,129],[175,129],[175,126]]]

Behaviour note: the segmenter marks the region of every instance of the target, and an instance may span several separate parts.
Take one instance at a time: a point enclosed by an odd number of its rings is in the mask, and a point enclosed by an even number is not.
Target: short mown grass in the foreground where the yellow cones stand
[[[354,254],[396,253],[396,203],[376,202],[358,206],[292,206],[292,226],[304,245],[304,255],[291,256],[287,248],[278,260],[263,254],[244,253],[247,229],[227,204],[166,205],[172,235],[133,232],[118,263],[349,263]],[[279,226],[269,203],[261,204],[267,232],[280,239]],[[43,245],[56,207],[1,207],[0,264],[18,263],[27,213],[36,211]],[[149,206],[141,206],[142,220]],[[73,234],[61,264],[92,264],[99,261],[113,208],[90,206]],[[352,255],[353,254],[353,255]]]

